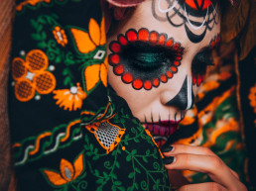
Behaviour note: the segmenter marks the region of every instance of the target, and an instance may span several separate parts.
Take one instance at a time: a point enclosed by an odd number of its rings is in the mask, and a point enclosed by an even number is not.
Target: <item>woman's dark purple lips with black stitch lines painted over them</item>
[[[143,123],[145,128],[157,136],[171,136],[177,131],[180,121],[160,121],[154,123]]]

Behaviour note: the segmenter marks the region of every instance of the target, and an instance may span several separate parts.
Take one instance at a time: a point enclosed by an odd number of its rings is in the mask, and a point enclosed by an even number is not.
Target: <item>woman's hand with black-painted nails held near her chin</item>
[[[206,173],[212,182],[187,184],[178,191],[247,191],[239,177],[209,148],[174,144],[162,149],[166,168]],[[174,179],[176,177],[173,177]]]

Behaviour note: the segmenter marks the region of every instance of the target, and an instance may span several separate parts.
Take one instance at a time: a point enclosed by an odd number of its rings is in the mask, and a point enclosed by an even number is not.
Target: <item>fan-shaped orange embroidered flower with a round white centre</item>
[[[80,109],[82,100],[86,98],[86,93],[82,91],[79,83],[70,87],[70,89],[59,89],[53,93],[56,94],[54,99],[58,100],[56,104],[60,107],[64,106],[64,110],[68,109],[69,111]]]

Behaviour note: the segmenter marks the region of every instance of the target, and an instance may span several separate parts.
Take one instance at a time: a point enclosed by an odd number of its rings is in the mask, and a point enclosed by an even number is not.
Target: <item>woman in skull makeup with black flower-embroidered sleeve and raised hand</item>
[[[166,169],[212,179],[180,191],[246,190],[209,149],[173,145],[163,155],[151,136],[168,139],[192,106],[218,42],[218,5],[109,2],[137,6],[112,23],[107,45],[99,1],[17,2],[9,117],[19,190],[170,190]],[[109,84],[129,107],[106,87],[106,46]]]

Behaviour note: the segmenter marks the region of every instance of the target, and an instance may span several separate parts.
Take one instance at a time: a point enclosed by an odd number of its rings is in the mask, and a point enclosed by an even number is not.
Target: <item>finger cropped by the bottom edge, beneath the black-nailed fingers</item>
[[[187,184],[178,191],[191,191],[191,190],[196,190],[196,191],[228,191],[226,188],[223,186],[215,183],[215,182],[205,182],[205,183],[200,183],[200,184]]]

